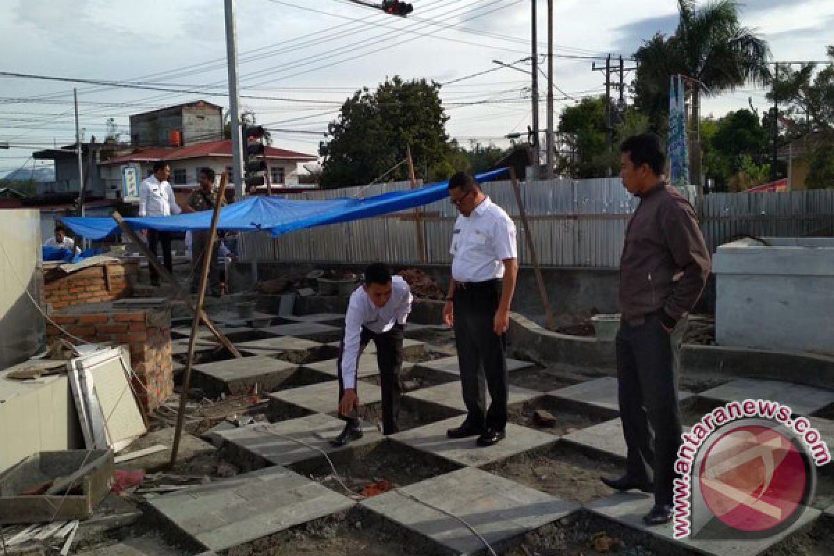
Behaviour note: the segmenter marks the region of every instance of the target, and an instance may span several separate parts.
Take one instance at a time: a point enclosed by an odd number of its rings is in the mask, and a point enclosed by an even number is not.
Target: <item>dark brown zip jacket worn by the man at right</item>
[[[695,211],[675,188],[661,182],[640,197],[620,258],[622,317],[641,324],[662,311],[671,328],[701,297],[710,253]]]

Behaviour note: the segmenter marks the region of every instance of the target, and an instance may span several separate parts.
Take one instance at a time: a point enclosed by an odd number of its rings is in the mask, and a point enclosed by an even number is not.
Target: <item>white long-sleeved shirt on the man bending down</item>
[[[405,324],[411,313],[411,288],[399,276],[391,277],[391,298],[377,307],[362,286],[350,294],[348,313],[344,316],[344,347],[342,348],[342,383],[356,388],[356,363],[359,360],[359,339],[362,328],[386,333],[395,324]]]

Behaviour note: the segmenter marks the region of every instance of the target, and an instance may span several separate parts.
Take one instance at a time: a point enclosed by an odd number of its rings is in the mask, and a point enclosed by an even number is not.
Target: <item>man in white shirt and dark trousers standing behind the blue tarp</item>
[[[158,160],[153,163],[153,175],[148,176],[139,185],[139,212],[138,216],[170,216],[172,214],[179,214],[182,211],[177,204],[177,199],[173,196],[173,188],[168,183],[168,177],[171,175],[171,167],[168,163]],[[150,248],[153,256],[157,256],[157,245],[162,243],[162,257],[165,268],[168,268],[169,273],[173,273],[173,260],[171,259],[171,233],[159,232],[158,230],[149,229],[148,234],[148,248]],[[150,265],[151,284],[153,286],[159,285],[159,274],[153,265]]]

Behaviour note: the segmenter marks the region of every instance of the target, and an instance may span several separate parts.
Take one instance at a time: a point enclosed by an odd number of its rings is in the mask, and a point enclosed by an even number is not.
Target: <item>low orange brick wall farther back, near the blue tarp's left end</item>
[[[80,303],[128,298],[138,268],[136,261],[101,263],[69,274],[60,268],[47,268],[43,275],[44,301],[59,311]]]

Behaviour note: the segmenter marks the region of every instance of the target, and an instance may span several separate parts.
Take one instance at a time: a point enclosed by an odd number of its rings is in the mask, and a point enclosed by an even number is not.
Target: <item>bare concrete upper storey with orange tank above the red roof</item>
[[[183,147],[223,138],[223,108],[204,100],[130,117],[133,147]]]

